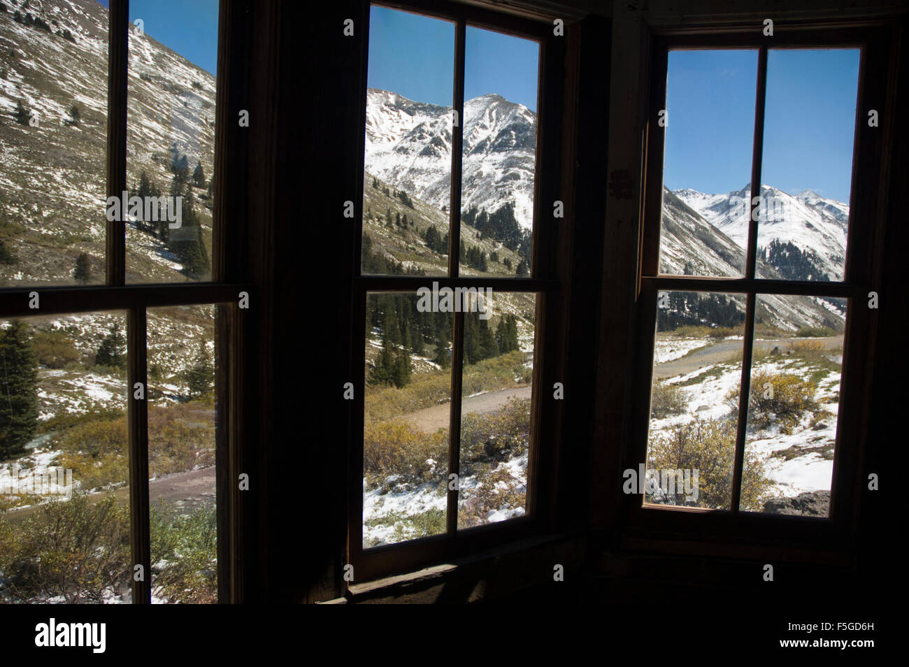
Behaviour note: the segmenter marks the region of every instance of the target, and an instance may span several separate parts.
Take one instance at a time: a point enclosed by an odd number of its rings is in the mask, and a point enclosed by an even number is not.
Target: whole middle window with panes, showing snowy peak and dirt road
[[[539,250],[540,193],[554,182],[537,108],[547,32],[464,7],[370,8],[355,581],[534,519],[539,345],[557,286]]]

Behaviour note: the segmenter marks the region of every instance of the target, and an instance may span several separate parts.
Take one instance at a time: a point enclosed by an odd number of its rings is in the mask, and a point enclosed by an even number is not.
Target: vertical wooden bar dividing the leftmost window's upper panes
[[[107,196],[126,189],[126,80],[129,63],[129,0],[111,0],[107,45]],[[125,223],[107,222],[106,284],[125,284]]]

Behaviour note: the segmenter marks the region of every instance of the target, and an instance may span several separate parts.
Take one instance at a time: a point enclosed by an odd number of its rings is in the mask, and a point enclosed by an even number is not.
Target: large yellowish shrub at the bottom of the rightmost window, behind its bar
[[[697,500],[689,503],[728,510],[732,502],[735,427],[734,419],[695,418],[669,433],[655,433],[648,446],[647,467],[654,471],[698,471]],[[774,482],[767,476],[766,461],[754,449],[745,448],[740,503],[743,510],[759,512],[773,496]],[[657,502],[651,496],[647,500]],[[684,494],[675,494],[668,502],[684,504]]]

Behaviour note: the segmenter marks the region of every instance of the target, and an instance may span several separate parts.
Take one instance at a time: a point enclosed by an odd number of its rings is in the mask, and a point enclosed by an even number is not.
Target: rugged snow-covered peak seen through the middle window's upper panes
[[[453,109],[370,88],[365,168],[385,183],[441,209],[449,203]],[[464,102],[462,208],[492,213],[514,204],[533,224],[536,114],[501,95]]]

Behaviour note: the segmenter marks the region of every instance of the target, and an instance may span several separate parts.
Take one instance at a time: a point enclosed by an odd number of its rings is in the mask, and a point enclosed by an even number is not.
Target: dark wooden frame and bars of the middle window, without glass
[[[449,208],[449,252],[446,276],[397,276],[362,274],[363,239],[363,178],[365,164],[365,133],[361,130],[359,171],[356,178],[355,219],[357,222],[355,248],[351,272],[354,276],[352,309],[354,313],[351,335],[350,377],[355,387],[352,401],[349,453],[349,499],[347,521],[347,559],[354,565],[355,581],[373,580],[393,572],[406,572],[440,559],[452,558],[478,550],[493,548],[503,543],[519,540],[538,533],[551,514],[553,484],[548,462],[553,455],[554,420],[561,406],[548,403],[544,409],[544,387],[554,383],[551,363],[554,350],[548,349],[547,340],[555,336],[557,304],[554,299],[562,290],[562,283],[555,276],[554,225],[544,215],[549,207],[544,202],[560,199],[559,124],[561,123],[562,90],[553,73],[559,71],[564,60],[564,46],[554,42],[552,24],[524,19],[514,15],[499,14],[484,9],[450,2],[378,2],[364,3],[364,14],[359,25],[365,25],[365,45],[361,54],[361,113],[360,127],[365,127],[366,83],[368,65],[369,15],[373,5],[425,15],[454,23],[454,110],[464,117],[464,43],[466,27],[479,27],[505,35],[534,40],[540,45],[537,80],[537,136],[534,166],[534,223],[531,249],[531,270],[528,278],[461,277],[459,275],[458,248],[460,243],[461,163],[463,124],[455,129],[452,138],[451,200]],[[365,390],[365,308],[369,293],[415,294],[419,287],[437,282],[440,287],[492,288],[495,291],[537,294],[534,340],[534,373],[531,398],[531,452],[527,467],[527,500],[524,516],[501,523],[491,523],[468,529],[457,529],[457,491],[449,491],[446,508],[446,532],[403,543],[363,548],[363,435]],[[464,342],[464,314],[454,313],[452,344],[452,401],[449,421],[449,473],[458,472],[461,424],[461,379]],[[562,403],[562,402],[554,402]]]

